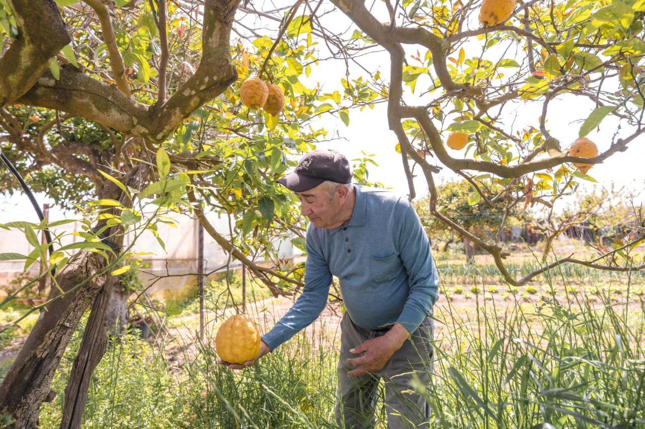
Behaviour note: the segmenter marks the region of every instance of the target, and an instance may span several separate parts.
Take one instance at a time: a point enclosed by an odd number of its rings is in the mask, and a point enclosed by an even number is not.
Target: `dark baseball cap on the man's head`
[[[350,163],[342,153],[327,149],[307,153],[292,173],[277,182],[294,192],[304,192],[326,180],[342,184],[352,182]]]

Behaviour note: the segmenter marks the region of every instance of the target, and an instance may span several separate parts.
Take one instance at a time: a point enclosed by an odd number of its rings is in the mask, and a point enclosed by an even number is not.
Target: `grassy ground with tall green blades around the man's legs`
[[[645,427],[640,274],[563,267],[514,289],[491,280],[494,267],[486,260],[471,267],[454,263],[457,254],[446,256],[437,258],[443,284],[435,306],[432,383],[413,386],[430,401],[432,427]],[[524,263],[518,262],[518,276],[531,269]],[[457,266],[463,271],[455,268],[446,285],[448,267]],[[154,346],[135,336],[111,343],[95,370],[84,427],[335,427],[339,306],[330,305],[259,365],[232,372],[216,364],[214,350],[217,327],[235,314],[230,302],[240,301],[239,280],[228,285],[230,293],[222,293],[225,282],[207,289],[203,341],[194,294],[186,293],[173,296],[183,312],[164,320],[167,329]],[[292,301],[248,287],[248,314],[264,332]],[[59,420],[78,343],[75,337],[54,378],[57,397],[43,405],[42,427]],[[384,411],[381,389],[381,428]]]

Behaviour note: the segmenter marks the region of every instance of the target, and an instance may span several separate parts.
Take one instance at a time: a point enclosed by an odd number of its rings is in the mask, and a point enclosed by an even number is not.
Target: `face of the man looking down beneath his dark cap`
[[[340,186],[330,197],[328,187],[321,184],[304,192],[296,192],[300,199],[301,213],[317,228],[334,228],[341,222],[342,202],[346,200],[346,187]],[[341,191],[342,189],[342,191]]]

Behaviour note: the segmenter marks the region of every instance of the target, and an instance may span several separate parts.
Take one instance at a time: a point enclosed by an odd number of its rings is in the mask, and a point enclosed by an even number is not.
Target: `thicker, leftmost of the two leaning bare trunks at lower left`
[[[83,313],[104,288],[105,274],[96,275],[103,266],[103,256],[81,251],[59,272],[57,280],[64,292],[78,289],[46,305],[6,374],[0,386],[0,414],[14,419],[8,427],[37,427],[41,405],[54,399],[52,377]],[[49,298],[59,295],[52,287]]]

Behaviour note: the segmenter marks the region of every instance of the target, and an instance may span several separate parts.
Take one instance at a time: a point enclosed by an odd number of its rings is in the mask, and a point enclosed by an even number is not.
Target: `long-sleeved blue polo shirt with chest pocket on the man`
[[[275,350],[310,325],[327,303],[332,275],[353,323],[380,329],[401,323],[414,332],[432,312],[439,278],[419,216],[404,196],[354,186],[350,221],[307,229],[304,288],[291,309],[263,337]]]

